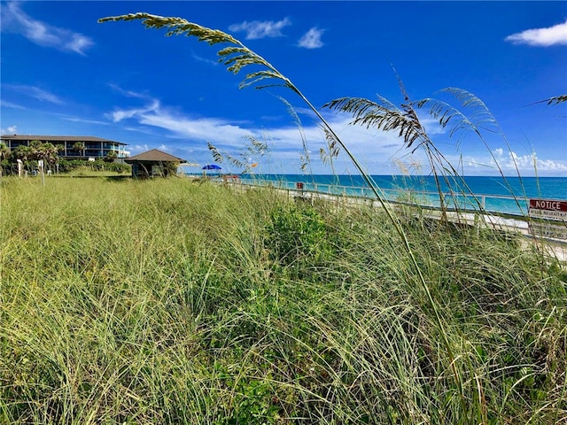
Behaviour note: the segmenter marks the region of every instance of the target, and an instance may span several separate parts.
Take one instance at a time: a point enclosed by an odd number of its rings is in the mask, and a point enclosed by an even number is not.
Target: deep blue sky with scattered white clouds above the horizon
[[[220,29],[288,77],[320,108],[338,97],[377,95],[403,103],[439,89],[466,89],[493,113],[505,135],[451,138],[425,110],[420,117],[439,150],[464,174],[567,176],[567,2],[2,2],[2,134],[93,135],[128,143],[132,155],[159,149],[201,165],[207,143],[258,163],[259,173],[330,174],[321,128],[290,90],[238,89],[217,61],[218,46],[165,37],[140,21],[97,23],[131,12],[178,16]],[[395,68],[395,73],[393,71]],[[297,112],[300,128],[282,102]],[[422,150],[395,133],[349,126],[322,115],[371,174],[427,174]],[[249,138],[268,143],[246,153]],[[237,172],[235,166],[223,165]],[[344,153],[334,169],[355,174]]]

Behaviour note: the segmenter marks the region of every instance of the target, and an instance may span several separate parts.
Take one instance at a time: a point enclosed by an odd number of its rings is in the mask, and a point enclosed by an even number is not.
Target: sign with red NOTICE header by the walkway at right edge
[[[532,235],[567,239],[567,201],[530,199],[530,217],[541,221],[530,223]]]

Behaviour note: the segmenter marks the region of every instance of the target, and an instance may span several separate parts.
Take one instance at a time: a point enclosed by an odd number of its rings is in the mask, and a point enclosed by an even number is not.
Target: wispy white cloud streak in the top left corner
[[[52,27],[45,22],[31,18],[23,12],[20,4],[11,2],[0,5],[2,15],[2,31],[23,35],[30,42],[40,46],[51,47],[63,51],[71,51],[85,55],[94,42],[79,33],[66,28]]]

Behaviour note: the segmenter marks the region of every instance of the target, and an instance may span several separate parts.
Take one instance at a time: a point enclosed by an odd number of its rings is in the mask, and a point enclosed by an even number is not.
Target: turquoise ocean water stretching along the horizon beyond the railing
[[[373,175],[372,178],[383,196],[391,201],[439,206],[439,194],[432,176]],[[282,189],[297,189],[297,183],[302,183],[306,191],[374,197],[360,175],[242,174],[240,180]],[[440,186],[449,207],[475,210],[482,205],[486,211],[494,213],[525,215],[531,198],[567,201],[567,177],[470,176],[442,181]]]

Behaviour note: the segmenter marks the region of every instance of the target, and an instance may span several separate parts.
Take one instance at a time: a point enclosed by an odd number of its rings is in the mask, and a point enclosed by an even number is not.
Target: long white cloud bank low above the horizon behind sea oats
[[[307,115],[311,115],[310,113],[301,109],[296,112],[302,117],[301,133],[307,141],[313,172],[315,174],[330,173],[330,166],[322,164],[320,155],[321,149],[327,149],[322,128],[318,122],[304,119]],[[172,110],[155,99],[143,107],[117,109],[110,116],[114,122],[125,124],[124,129],[144,131],[144,128],[159,128],[166,130],[165,137],[176,140],[165,143],[158,149],[162,151],[168,149],[172,154],[183,158],[183,155],[187,153],[186,150],[191,148],[195,150],[191,151],[191,156],[201,162],[212,160],[210,152],[206,149],[207,142],[213,143],[229,155],[237,156],[245,149],[247,143],[245,136],[251,135],[268,143],[272,158],[270,162],[272,172],[275,171],[273,167],[277,165],[282,168],[277,172],[299,173],[299,157],[305,155],[299,128],[292,124],[284,127],[251,128],[246,127],[243,123],[221,118],[196,118]],[[370,174],[429,173],[429,162],[424,151],[416,149],[412,153],[411,150],[404,147],[397,132],[383,132],[349,125],[352,118],[342,113],[325,112],[325,120]],[[424,119],[422,122],[430,135],[443,132],[435,120]],[[445,157],[464,175],[499,174],[499,167],[507,175],[517,174],[517,170],[522,175],[535,174],[536,166],[540,175],[564,175],[567,172],[567,161],[541,159],[535,154],[518,155],[516,152],[496,148],[493,150],[494,158],[489,152],[462,156],[459,152],[454,153],[453,145],[440,144],[439,147],[445,150]],[[334,166],[339,174],[356,173],[352,160],[347,157],[344,150],[341,150],[338,158],[335,158]],[[262,170],[259,168],[256,171],[261,172]]]

